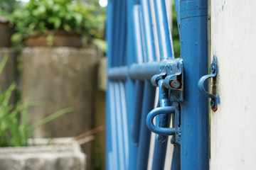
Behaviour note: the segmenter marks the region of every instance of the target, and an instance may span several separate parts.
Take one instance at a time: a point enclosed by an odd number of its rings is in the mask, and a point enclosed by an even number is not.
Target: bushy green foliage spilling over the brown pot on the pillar
[[[16,8],[9,19],[15,24],[14,45],[20,45],[31,33],[48,30],[73,31],[86,35],[88,40],[102,39],[105,13],[97,13],[95,5],[78,0],[31,0]]]

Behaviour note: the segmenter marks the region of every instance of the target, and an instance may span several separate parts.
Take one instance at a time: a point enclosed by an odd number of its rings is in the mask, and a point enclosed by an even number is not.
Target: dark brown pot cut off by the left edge
[[[11,47],[12,29],[9,27],[9,21],[0,16],[0,47]]]

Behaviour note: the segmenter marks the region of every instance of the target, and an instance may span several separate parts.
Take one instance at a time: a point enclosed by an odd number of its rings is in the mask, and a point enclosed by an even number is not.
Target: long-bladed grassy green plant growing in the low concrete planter
[[[5,55],[0,63],[0,75],[7,60],[8,55]],[[26,101],[22,104],[21,101],[18,101],[15,105],[10,105],[9,99],[15,90],[15,83],[12,83],[4,92],[0,89],[0,147],[28,146],[28,138],[32,137],[33,130],[65,113],[73,111],[73,108],[65,108],[43,118],[38,123],[29,125],[28,108],[37,106],[38,103]]]

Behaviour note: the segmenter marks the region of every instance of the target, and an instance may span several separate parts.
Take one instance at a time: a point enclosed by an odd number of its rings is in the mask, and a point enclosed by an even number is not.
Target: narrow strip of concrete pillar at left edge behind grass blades
[[[17,76],[16,52],[9,47],[0,47],[0,62],[3,60],[4,55],[6,54],[9,55],[9,59],[0,75],[1,91],[6,91],[6,89],[8,89],[14,81],[16,81]],[[10,98],[10,103],[14,103],[15,100],[16,95],[14,92]]]

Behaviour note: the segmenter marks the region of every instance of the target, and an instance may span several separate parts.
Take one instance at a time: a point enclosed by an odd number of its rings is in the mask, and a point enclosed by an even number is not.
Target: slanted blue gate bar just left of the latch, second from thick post
[[[156,61],[156,51],[154,47],[154,35],[151,21],[151,11],[149,0],[141,0],[142,18],[143,18],[143,32],[146,51],[146,62]],[[139,130],[139,146],[137,158],[137,170],[144,170],[147,168],[149,159],[149,145],[151,132],[146,127],[146,115],[154,108],[154,97],[156,89],[151,85],[149,80],[144,81],[144,96],[142,103],[142,118]]]

